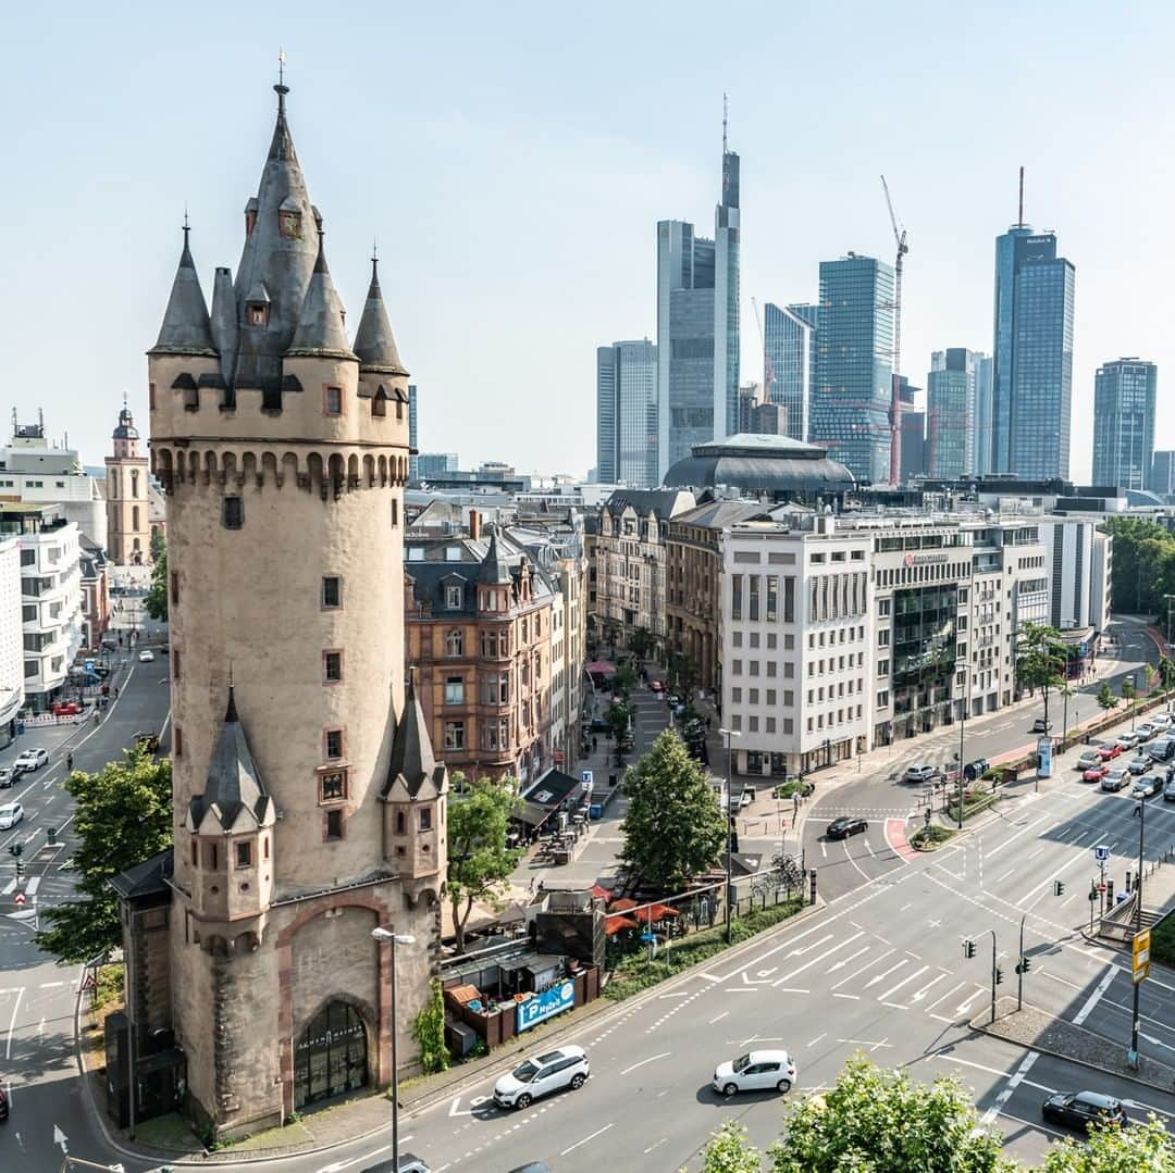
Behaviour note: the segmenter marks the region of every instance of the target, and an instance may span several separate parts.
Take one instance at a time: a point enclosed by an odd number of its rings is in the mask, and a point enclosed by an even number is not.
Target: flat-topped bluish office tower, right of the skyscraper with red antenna
[[[1155,451],[1155,389],[1159,368],[1119,358],[1097,368],[1094,379],[1093,483],[1146,488]]]

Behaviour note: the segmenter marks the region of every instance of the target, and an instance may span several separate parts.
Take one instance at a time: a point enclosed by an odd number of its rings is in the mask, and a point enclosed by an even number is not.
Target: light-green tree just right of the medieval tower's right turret
[[[449,903],[458,953],[465,951],[465,924],[474,904],[501,908],[502,888],[522,858],[521,849],[506,847],[510,813],[517,804],[513,778],[466,782],[457,776],[450,790]]]

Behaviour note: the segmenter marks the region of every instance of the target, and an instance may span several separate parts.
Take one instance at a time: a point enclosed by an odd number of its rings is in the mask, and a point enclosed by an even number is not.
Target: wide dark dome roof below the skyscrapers
[[[665,473],[667,487],[727,485],[772,494],[845,493],[855,487],[853,474],[827,449],[788,436],[740,433],[694,444],[691,453]]]

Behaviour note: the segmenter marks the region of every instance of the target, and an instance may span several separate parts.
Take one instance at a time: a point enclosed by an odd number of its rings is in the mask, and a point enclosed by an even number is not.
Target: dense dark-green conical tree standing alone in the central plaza
[[[625,776],[629,809],[620,858],[664,891],[713,868],[726,843],[726,820],[705,769],[666,729]]]

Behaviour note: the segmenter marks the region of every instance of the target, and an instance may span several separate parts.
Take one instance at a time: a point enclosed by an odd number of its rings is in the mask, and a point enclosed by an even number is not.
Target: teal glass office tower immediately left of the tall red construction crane
[[[820,262],[811,441],[860,481],[889,480],[893,267],[850,252]]]

